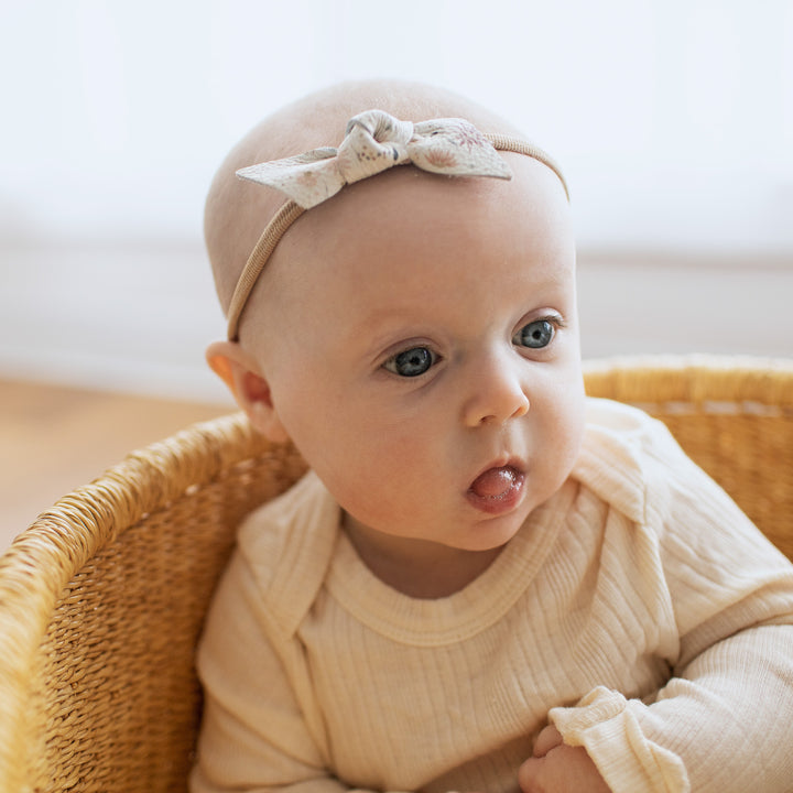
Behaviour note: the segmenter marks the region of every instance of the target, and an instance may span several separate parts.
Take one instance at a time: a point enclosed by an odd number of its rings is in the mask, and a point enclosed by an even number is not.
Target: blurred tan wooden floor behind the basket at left
[[[235,410],[0,381],[0,552],[59,497],[132,449]]]

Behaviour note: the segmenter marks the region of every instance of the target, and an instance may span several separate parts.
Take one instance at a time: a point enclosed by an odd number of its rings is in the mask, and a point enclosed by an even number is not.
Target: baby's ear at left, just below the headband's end
[[[274,443],[289,441],[272,401],[270,384],[256,360],[236,341],[215,341],[207,347],[207,363],[226,383],[251,424]]]

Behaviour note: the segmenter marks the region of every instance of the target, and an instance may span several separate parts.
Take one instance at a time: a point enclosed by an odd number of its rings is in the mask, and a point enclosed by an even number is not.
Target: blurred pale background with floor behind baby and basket
[[[561,161],[586,357],[793,356],[790,0],[0,9],[9,531],[121,452],[230,409],[203,355],[224,335],[204,196],[263,115],[339,79],[447,86]]]

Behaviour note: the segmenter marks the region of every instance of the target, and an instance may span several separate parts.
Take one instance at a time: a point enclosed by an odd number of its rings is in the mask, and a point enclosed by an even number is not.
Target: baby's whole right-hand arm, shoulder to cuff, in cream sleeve
[[[658,459],[637,531],[674,609],[672,677],[644,700],[597,687],[551,721],[615,791],[790,793],[793,566],[677,449]]]

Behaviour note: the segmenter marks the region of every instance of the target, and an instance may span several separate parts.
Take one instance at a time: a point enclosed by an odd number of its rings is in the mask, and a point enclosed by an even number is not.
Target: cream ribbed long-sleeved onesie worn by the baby
[[[793,791],[793,565],[660,423],[588,402],[567,482],[461,591],[377,579],[308,474],[242,526],[194,793],[515,792],[551,720],[613,791]]]

